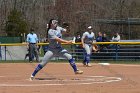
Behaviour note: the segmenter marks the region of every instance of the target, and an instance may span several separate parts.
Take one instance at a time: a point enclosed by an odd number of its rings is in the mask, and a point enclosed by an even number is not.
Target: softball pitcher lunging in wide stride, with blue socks
[[[83,73],[83,71],[77,69],[75,61],[72,58],[72,55],[69,54],[68,51],[61,46],[61,43],[72,44],[72,40],[70,41],[63,40],[60,38],[60,35],[61,35],[60,31],[59,29],[57,29],[57,20],[51,19],[48,27],[48,41],[49,41],[48,51],[45,53],[42,62],[38,64],[34,72],[31,74],[30,80],[33,80],[38,71],[40,71],[48,63],[49,59],[51,59],[53,56],[56,55],[67,58],[75,74]]]

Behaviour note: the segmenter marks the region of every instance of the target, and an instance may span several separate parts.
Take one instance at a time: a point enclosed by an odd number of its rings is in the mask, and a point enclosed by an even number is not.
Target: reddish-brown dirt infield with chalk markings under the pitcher
[[[75,75],[69,64],[49,63],[29,81],[37,64],[0,64],[0,93],[140,93],[140,65],[93,64],[78,68]]]

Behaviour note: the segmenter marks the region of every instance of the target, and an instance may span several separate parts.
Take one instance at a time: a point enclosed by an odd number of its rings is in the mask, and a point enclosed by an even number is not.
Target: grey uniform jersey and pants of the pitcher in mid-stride
[[[72,56],[68,53],[66,49],[64,49],[61,46],[61,43],[57,42],[55,40],[56,37],[61,38],[62,34],[60,29],[50,29],[48,31],[48,40],[49,40],[49,45],[48,45],[48,52],[44,55],[44,58],[41,62],[42,66],[45,66],[46,63],[48,62],[49,59],[51,59],[53,56],[62,56],[69,59],[72,59]]]

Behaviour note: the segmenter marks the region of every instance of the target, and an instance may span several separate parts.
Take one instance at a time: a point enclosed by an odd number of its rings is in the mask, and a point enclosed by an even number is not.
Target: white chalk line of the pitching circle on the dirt
[[[1,76],[0,76],[1,77]],[[45,84],[0,84],[0,87],[37,87],[37,86],[62,86],[62,85],[90,85],[90,84],[94,84],[94,83],[110,83],[110,82],[117,82],[117,81],[121,81],[122,78],[120,77],[107,77],[107,76],[86,76],[87,78],[84,78],[84,80],[47,80],[47,81],[60,81],[59,83],[45,83]],[[101,79],[99,81],[95,80],[94,78],[102,78],[103,81],[101,81]],[[108,80],[109,79],[109,80]],[[29,81],[29,79],[26,79]],[[34,82],[34,81],[46,81],[46,80],[33,80],[30,81]],[[65,81],[66,83],[61,83],[61,81]],[[75,82],[75,83],[68,83],[68,82]],[[78,82],[77,82],[78,81]],[[83,83],[84,82],[84,83]]]

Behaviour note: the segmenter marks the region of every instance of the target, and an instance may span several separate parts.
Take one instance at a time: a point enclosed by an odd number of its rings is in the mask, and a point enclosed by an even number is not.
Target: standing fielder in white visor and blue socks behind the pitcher
[[[93,49],[93,41],[95,40],[95,34],[92,32],[92,26],[88,26],[87,31],[83,33],[81,43],[85,50],[83,65],[91,67],[90,56]]]

